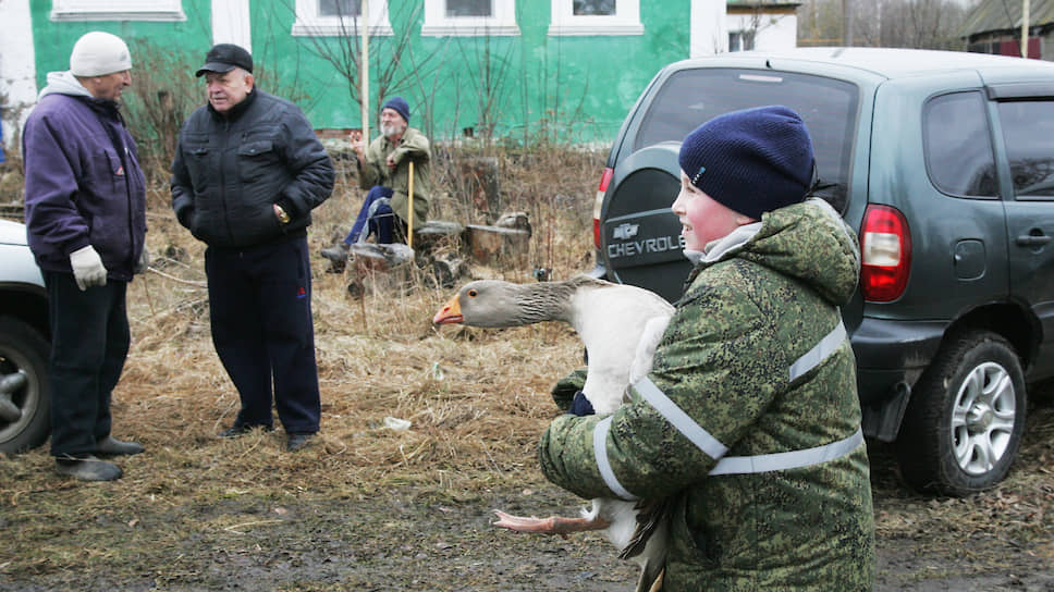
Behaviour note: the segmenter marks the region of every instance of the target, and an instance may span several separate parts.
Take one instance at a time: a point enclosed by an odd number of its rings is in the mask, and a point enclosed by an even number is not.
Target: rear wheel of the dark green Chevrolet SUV
[[[1017,455],[1026,405],[1021,363],[1005,338],[990,331],[952,337],[911,393],[896,441],[903,479],[953,496],[992,488]]]

